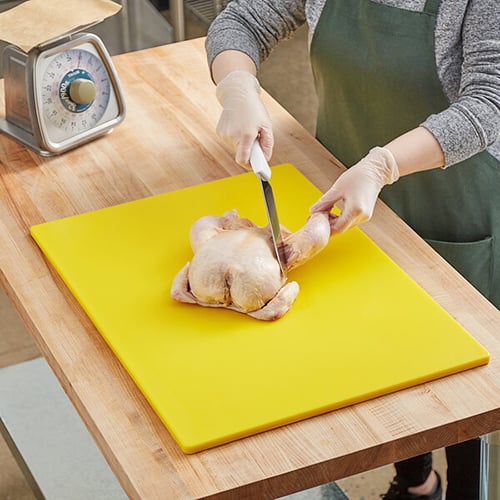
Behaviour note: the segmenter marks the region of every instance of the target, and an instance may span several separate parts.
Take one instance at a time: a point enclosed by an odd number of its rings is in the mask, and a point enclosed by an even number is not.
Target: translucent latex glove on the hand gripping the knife
[[[232,71],[216,89],[223,107],[217,134],[236,149],[235,160],[249,168],[250,149],[256,138],[267,160],[274,146],[271,118],[260,98],[259,81],[248,71]]]

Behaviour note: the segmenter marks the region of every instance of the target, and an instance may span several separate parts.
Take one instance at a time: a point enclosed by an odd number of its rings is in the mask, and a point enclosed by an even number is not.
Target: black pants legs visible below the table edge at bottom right
[[[480,439],[472,439],[446,448],[448,463],[446,500],[479,500]],[[432,453],[395,464],[398,476],[410,486],[422,484],[432,470]]]

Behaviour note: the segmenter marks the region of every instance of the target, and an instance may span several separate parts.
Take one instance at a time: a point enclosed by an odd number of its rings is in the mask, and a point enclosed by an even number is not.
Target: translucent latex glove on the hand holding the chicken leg
[[[356,165],[346,170],[333,186],[311,207],[311,212],[330,211],[335,204],[341,215],[332,219],[332,234],[343,233],[371,219],[381,189],[399,179],[392,153],[375,147]]]

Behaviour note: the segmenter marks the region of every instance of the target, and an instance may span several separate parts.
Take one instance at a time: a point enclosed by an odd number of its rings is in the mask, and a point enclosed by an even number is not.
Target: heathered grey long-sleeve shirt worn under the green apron
[[[209,64],[224,50],[257,68],[276,44],[307,22],[309,40],[326,0],[233,0],[209,28]],[[425,0],[371,0],[422,11]],[[438,76],[450,106],[422,125],[439,141],[446,166],[488,149],[500,160],[500,0],[442,0],[436,23]],[[293,64],[293,61],[290,61]]]

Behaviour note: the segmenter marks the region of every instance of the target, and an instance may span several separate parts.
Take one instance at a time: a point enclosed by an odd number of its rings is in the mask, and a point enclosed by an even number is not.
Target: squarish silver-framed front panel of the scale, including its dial
[[[51,149],[79,144],[121,121],[123,109],[107,53],[91,38],[42,53],[35,65],[35,107]]]

